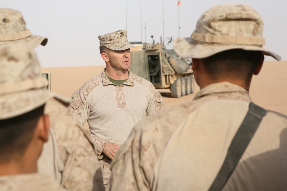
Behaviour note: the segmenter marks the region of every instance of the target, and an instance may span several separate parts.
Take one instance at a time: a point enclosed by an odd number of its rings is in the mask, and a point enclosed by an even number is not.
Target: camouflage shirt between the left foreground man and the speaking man
[[[38,172],[51,174],[46,166],[54,166],[57,180],[68,190],[104,190],[102,172],[95,145],[88,130],[82,128],[77,115],[69,107],[69,101],[56,96],[45,105],[45,114],[50,119],[50,137],[53,149],[43,147],[46,160],[38,160]],[[52,136],[51,136],[52,135]],[[50,148],[50,149],[49,149]],[[46,151],[45,151],[46,149]],[[42,154],[43,154],[42,153]],[[51,169],[50,169],[51,171]]]

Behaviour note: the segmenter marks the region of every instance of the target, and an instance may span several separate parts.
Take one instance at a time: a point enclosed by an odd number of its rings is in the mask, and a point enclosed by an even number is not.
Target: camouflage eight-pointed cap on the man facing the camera
[[[119,30],[105,35],[99,35],[100,46],[106,46],[112,50],[126,50],[134,48],[132,44],[127,42],[127,31]]]

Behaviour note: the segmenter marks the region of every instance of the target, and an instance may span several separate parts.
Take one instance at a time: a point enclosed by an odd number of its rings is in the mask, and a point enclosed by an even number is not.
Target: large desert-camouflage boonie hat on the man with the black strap
[[[261,16],[247,5],[217,5],[201,15],[190,38],[176,38],[173,47],[179,56],[189,58],[206,58],[225,50],[243,49],[262,51],[280,60],[279,55],[262,48],[265,45],[263,25]]]

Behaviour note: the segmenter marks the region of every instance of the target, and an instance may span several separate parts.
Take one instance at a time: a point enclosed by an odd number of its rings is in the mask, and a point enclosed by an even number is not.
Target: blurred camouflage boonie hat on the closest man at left
[[[40,78],[40,65],[26,44],[0,46],[0,120],[22,115],[50,99],[46,78]]]

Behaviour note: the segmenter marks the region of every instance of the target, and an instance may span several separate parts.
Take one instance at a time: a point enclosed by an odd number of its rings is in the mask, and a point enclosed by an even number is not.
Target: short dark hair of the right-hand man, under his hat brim
[[[232,49],[203,58],[201,61],[214,80],[229,77],[247,82],[252,77],[262,56],[261,51]]]

